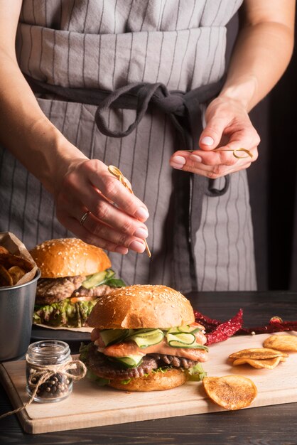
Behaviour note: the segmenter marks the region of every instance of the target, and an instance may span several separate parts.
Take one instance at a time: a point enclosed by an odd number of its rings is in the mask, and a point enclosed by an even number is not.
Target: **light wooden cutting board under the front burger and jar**
[[[297,353],[289,353],[286,362],[274,370],[257,370],[249,365],[232,367],[227,360],[237,350],[261,348],[268,336],[238,336],[211,345],[209,361],[203,366],[208,376],[238,374],[251,378],[258,395],[250,407],[297,402]],[[2,363],[0,378],[13,407],[28,401],[24,361]],[[18,417],[26,432],[36,434],[216,411],[224,409],[207,398],[201,382],[187,382],[167,391],[123,392],[98,387],[85,378],[74,383],[67,399],[57,403],[33,402]]]

